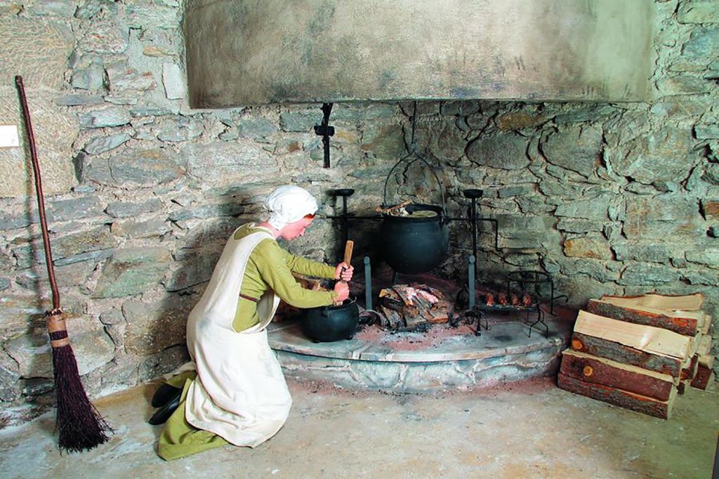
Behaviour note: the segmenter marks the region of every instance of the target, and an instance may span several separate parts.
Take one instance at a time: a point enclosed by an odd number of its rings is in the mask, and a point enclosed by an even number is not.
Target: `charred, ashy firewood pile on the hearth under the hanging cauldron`
[[[444,294],[426,284],[397,284],[380,291],[383,329],[421,329],[449,321],[449,304]]]

